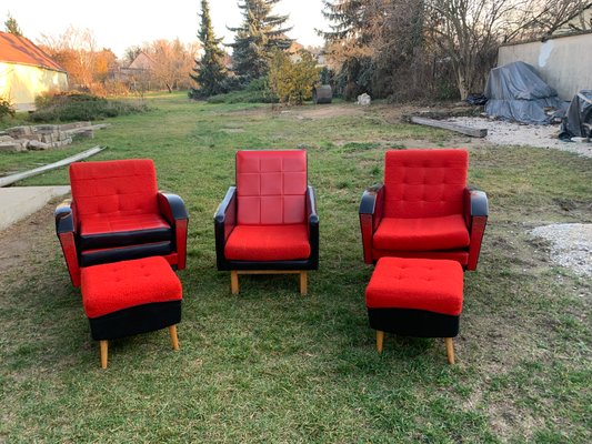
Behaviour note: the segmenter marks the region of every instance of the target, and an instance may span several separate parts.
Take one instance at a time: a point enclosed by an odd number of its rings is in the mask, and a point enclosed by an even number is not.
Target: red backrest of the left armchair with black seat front
[[[72,163],[70,185],[80,218],[158,213],[157,172],[150,159]]]

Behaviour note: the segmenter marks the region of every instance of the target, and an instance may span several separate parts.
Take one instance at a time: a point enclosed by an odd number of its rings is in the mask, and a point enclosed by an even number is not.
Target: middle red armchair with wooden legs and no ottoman
[[[237,152],[237,185],[214,215],[218,270],[239,274],[300,274],[319,268],[319,216],[308,186],[305,151]]]

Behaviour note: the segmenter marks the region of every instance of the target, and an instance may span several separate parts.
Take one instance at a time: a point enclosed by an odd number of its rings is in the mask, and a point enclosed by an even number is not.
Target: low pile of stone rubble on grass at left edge
[[[13,127],[0,131],[0,151],[60,148],[72,143],[74,137],[92,139],[94,130],[107,127],[107,124],[93,125],[91,122]]]

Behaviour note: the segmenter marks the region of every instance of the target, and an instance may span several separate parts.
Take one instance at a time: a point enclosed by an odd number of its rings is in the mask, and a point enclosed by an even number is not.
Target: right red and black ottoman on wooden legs
[[[370,326],[382,353],[384,332],[444,337],[454,363],[452,337],[459,334],[463,272],[456,261],[381,258],[365,289]]]

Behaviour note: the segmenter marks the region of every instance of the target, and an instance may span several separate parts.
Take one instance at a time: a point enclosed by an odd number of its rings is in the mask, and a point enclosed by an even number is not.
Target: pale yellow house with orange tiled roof
[[[68,73],[29,39],[0,32],[0,97],[17,111],[34,110],[34,98],[67,91]]]

